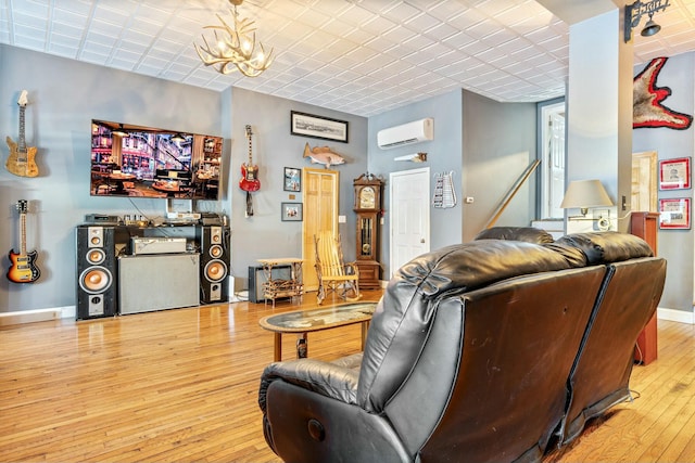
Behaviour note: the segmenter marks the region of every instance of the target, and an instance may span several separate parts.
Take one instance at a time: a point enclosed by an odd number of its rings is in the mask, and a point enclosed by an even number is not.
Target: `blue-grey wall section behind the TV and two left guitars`
[[[89,195],[92,118],[229,137],[218,92],[0,44],[0,133],[15,141],[24,89],[26,141],[38,147],[40,177],[0,170],[0,243],[18,248],[14,205],[29,201],[27,247],[39,250],[41,278],[30,285],[0,279],[3,312],[75,305],[74,228],[86,214],[162,217],[166,210],[161,200]],[[0,153],[8,158],[4,143]],[[205,203],[204,209],[218,207]],[[2,262],[7,269],[9,259]]]

